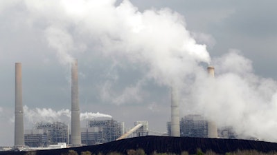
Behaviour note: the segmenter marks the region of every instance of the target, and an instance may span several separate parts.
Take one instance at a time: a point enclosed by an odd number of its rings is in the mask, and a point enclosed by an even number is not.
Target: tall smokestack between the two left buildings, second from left
[[[81,145],[78,61],[71,63],[71,144]]]

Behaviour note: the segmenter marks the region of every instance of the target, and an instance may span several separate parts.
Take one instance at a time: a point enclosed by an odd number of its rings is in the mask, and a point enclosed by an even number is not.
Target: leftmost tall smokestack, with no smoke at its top
[[[15,147],[24,145],[21,63],[15,63]]]

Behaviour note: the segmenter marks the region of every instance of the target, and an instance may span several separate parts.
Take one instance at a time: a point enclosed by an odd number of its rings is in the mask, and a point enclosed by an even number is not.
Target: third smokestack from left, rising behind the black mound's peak
[[[180,136],[179,98],[176,87],[171,88],[171,136]]]

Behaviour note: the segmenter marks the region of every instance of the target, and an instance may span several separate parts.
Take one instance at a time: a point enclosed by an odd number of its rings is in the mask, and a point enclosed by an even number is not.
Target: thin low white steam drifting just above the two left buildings
[[[24,116],[26,120],[26,127],[32,127],[37,122],[69,122],[71,118],[71,111],[68,109],[55,111],[51,108],[30,109],[24,105]],[[108,114],[100,114],[99,112],[84,112],[80,114],[81,121],[94,118],[111,118],[111,116]]]

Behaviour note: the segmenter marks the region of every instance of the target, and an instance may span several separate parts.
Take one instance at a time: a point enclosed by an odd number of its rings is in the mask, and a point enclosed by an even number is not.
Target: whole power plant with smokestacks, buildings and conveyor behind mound
[[[215,69],[208,66],[208,75],[214,78]],[[227,135],[227,130],[222,130]],[[24,137],[24,112],[22,105],[21,63],[15,63],[15,147],[33,145],[53,145],[69,143],[72,146],[93,145],[136,136],[148,135],[148,121],[137,121],[134,127],[125,132],[124,123],[114,120],[87,121],[87,127],[80,127],[80,105],[78,90],[78,61],[71,63],[71,134],[64,123],[37,123],[35,130],[26,130]],[[231,132],[230,132],[231,133]],[[202,116],[179,116],[179,90],[177,85],[171,87],[171,122],[168,122],[169,136],[199,136],[217,138],[217,125],[206,121]],[[229,135],[229,134],[228,134]],[[228,136],[227,135],[227,136]],[[25,139],[24,139],[25,138]]]

